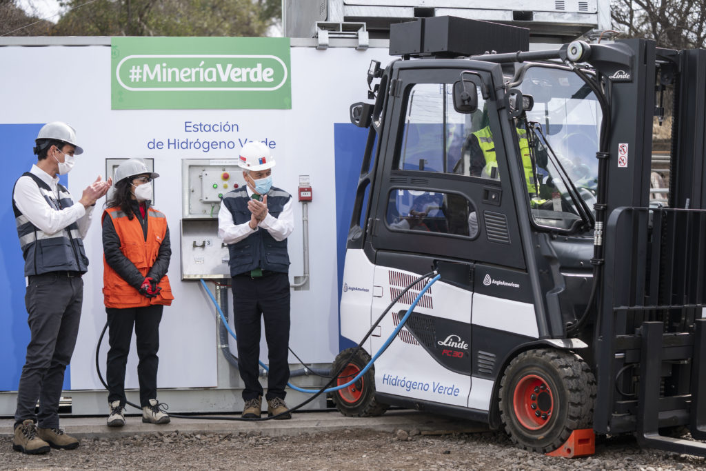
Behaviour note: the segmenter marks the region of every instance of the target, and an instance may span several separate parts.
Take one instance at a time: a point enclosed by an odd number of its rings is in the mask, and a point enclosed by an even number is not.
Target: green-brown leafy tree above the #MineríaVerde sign
[[[278,0],[66,0],[64,6],[74,9],[53,35],[263,36],[281,15]]]

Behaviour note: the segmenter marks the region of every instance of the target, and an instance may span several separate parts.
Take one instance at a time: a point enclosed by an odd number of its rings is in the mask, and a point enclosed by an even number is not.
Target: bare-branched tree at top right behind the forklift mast
[[[611,18],[628,37],[647,37],[659,47],[706,44],[705,0],[611,0]]]

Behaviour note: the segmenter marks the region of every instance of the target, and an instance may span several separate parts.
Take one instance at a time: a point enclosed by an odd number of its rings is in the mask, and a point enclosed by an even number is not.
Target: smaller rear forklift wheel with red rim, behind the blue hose
[[[332,372],[341,369],[336,386],[351,381],[370,362],[370,355],[365,350],[358,350],[355,356],[344,364],[353,352],[348,348],[340,352],[333,362]],[[341,414],[347,417],[371,417],[381,415],[388,410],[387,404],[375,400],[375,366],[371,366],[361,378],[346,388],[330,393],[333,403]]]

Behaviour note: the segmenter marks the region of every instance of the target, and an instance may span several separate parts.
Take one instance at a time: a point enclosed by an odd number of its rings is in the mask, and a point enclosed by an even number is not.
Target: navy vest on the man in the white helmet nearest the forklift
[[[268,213],[277,217],[282,213],[285,204],[292,198],[287,191],[273,186],[267,193]],[[237,190],[229,191],[223,196],[223,204],[233,216],[235,225],[244,224],[250,220],[250,210],[248,209],[247,187],[243,186]],[[230,275],[240,275],[250,273],[251,270],[262,268],[263,270],[277,271],[280,273],[289,272],[289,254],[287,254],[287,239],[275,240],[266,229],[258,229],[257,232],[249,235],[240,242],[229,244],[230,254]]]

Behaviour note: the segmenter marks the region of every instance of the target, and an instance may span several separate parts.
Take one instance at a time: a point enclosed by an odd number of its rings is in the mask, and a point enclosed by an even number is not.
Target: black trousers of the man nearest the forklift
[[[265,399],[284,399],[289,381],[289,277],[271,273],[261,278],[233,277],[233,312],[238,343],[238,369],[245,383],[243,399],[263,395],[258,381],[260,358],[260,319],[265,321],[268,347],[268,390]]]

